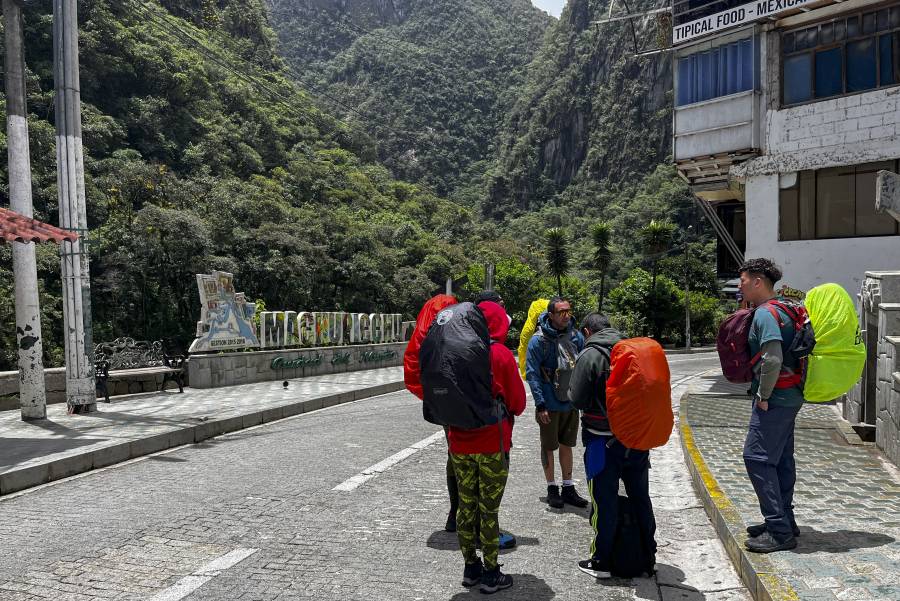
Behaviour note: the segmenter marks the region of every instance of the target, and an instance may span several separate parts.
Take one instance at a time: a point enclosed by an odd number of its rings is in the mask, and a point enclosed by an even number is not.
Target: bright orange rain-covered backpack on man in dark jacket
[[[675,416],[669,362],[658,342],[628,338],[612,348],[606,412],[613,436],[629,449],[649,451],[669,441]]]

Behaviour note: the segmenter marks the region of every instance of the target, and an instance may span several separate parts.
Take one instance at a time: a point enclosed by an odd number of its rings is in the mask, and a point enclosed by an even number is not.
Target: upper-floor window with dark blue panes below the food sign
[[[785,105],[900,84],[900,6],[781,36]]]

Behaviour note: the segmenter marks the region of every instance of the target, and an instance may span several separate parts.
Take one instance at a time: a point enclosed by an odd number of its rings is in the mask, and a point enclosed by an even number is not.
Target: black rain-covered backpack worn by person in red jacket
[[[463,430],[497,423],[490,348],[478,307],[460,303],[438,313],[419,348],[426,421]]]

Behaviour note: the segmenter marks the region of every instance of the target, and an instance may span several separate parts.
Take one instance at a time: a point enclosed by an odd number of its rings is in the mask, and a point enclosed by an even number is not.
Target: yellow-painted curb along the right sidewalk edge
[[[694,490],[700,497],[719,540],[725,546],[731,563],[755,601],[799,601],[797,591],[778,575],[775,566],[765,555],[750,553],[744,549],[747,540],[746,524],[740,512],[731,502],[706,465],[697,445],[694,432],[687,421],[685,399],[690,393],[685,391],[679,401],[679,429],[684,462],[691,472]]]

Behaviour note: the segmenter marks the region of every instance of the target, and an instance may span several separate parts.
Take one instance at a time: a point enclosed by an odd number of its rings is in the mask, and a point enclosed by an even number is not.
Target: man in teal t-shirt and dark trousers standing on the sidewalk
[[[794,425],[803,405],[799,361],[788,352],[794,338],[790,316],[772,300],[779,300],[775,284],[781,269],[770,259],[750,259],[740,267],[740,291],[756,309],[748,341],[750,356],[759,357],[750,385],[753,409],[744,442],[744,465],[756,492],[764,522],[747,528],[745,546],[771,553],[797,546],[800,531],[794,519]],[[776,318],[777,316],[777,318]]]

